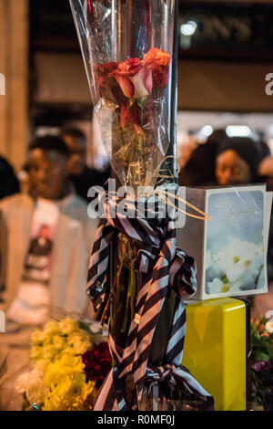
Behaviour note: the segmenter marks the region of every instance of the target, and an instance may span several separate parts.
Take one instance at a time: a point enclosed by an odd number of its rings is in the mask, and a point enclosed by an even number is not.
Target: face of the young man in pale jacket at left
[[[66,157],[56,151],[34,149],[29,153],[29,178],[35,197],[60,198],[67,177]]]

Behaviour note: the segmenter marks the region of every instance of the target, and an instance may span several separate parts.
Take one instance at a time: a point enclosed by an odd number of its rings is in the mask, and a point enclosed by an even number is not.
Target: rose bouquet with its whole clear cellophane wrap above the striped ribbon
[[[70,4],[109,161],[121,184],[154,185],[169,142],[174,2]]]

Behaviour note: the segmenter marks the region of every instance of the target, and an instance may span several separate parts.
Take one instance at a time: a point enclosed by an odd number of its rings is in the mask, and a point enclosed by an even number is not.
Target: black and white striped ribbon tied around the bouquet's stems
[[[109,215],[113,204],[116,217]],[[175,290],[177,298],[165,361],[177,368],[182,361],[186,310],[181,298],[196,292],[196,266],[191,256],[177,249],[175,224],[170,217],[138,217],[134,200],[127,204],[131,210],[130,216],[119,213],[116,198],[111,201],[106,199],[103,205],[106,218],[101,221],[96,232],[87,283],[87,294],[96,311],[101,313],[105,309],[110,294],[110,243],[113,235],[121,232],[142,244],[136,259],[136,269],[143,273],[143,284],[136,298],[135,317],[131,322],[124,350],[118,348],[109,335],[110,351],[118,363],[107,375],[94,404],[95,411],[126,410],[124,395],[118,387],[119,381],[131,373],[135,384],[140,384],[147,376],[150,346],[169,288]],[[154,371],[155,374],[156,372]],[[181,371],[178,372],[181,375]],[[193,377],[190,376],[187,383],[200,396],[211,398]]]

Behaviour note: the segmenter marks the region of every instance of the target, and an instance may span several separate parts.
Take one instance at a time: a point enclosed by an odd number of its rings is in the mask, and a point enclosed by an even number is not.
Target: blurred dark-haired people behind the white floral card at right
[[[181,186],[232,186],[266,183],[273,191],[273,156],[265,141],[248,137],[228,137],[225,130],[216,130],[207,141],[191,141],[182,152],[179,184]],[[273,309],[273,210],[268,239],[269,294],[255,298],[252,314],[261,318]]]

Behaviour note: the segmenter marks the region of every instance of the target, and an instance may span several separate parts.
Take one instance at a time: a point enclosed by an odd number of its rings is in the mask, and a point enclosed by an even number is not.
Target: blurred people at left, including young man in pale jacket
[[[94,317],[86,278],[98,219],[87,214],[87,191],[108,176],[87,167],[86,136],[74,128],[36,137],[18,178],[0,158],[0,309],[8,327],[41,325],[60,309]]]

